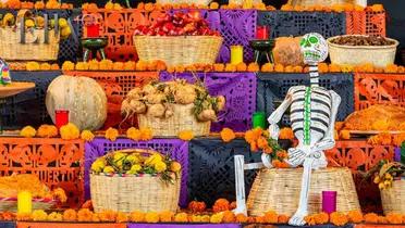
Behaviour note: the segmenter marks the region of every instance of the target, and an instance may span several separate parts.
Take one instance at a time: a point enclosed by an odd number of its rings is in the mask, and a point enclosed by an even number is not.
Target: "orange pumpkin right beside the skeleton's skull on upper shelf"
[[[274,65],[303,66],[304,59],[300,54],[300,39],[303,37],[279,37],[273,49]]]

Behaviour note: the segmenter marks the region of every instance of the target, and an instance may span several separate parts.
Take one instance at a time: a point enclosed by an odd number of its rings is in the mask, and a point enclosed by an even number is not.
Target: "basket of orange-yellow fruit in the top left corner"
[[[21,18],[25,16],[24,25]],[[28,10],[21,10],[16,16],[7,13],[0,27],[0,53],[7,61],[54,61],[58,59],[59,40],[68,38],[71,28],[66,20],[58,21],[60,30],[56,31],[54,20],[49,20],[45,27],[42,16],[34,16]],[[22,42],[22,27],[25,38]],[[46,35],[47,34],[47,35]],[[46,41],[46,37],[48,37]]]

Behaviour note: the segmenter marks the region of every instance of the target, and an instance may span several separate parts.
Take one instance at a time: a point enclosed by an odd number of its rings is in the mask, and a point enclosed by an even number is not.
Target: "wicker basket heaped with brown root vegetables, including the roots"
[[[209,96],[202,83],[185,80],[152,81],[142,90],[135,88],[122,102],[125,119],[137,114],[139,127],[154,130],[154,136],[176,137],[183,130],[207,136],[217,113],[225,106],[225,98]]]

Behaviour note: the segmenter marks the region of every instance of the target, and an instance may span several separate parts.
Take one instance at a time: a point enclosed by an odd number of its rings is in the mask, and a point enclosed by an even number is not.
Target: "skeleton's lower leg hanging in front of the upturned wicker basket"
[[[298,210],[294,214],[294,216],[291,217],[289,220],[289,224],[292,226],[304,226],[306,224],[304,217],[308,215],[308,193],[310,185],[310,175],[312,172],[312,162],[314,159],[310,156],[305,159]]]

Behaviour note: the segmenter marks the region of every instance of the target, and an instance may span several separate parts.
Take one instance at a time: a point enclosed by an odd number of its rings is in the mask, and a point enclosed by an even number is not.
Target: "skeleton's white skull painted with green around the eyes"
[[[300,40],[300,53],[306,64],[323,62],[328,58],[327,40],[316,33],[306,34]]]

